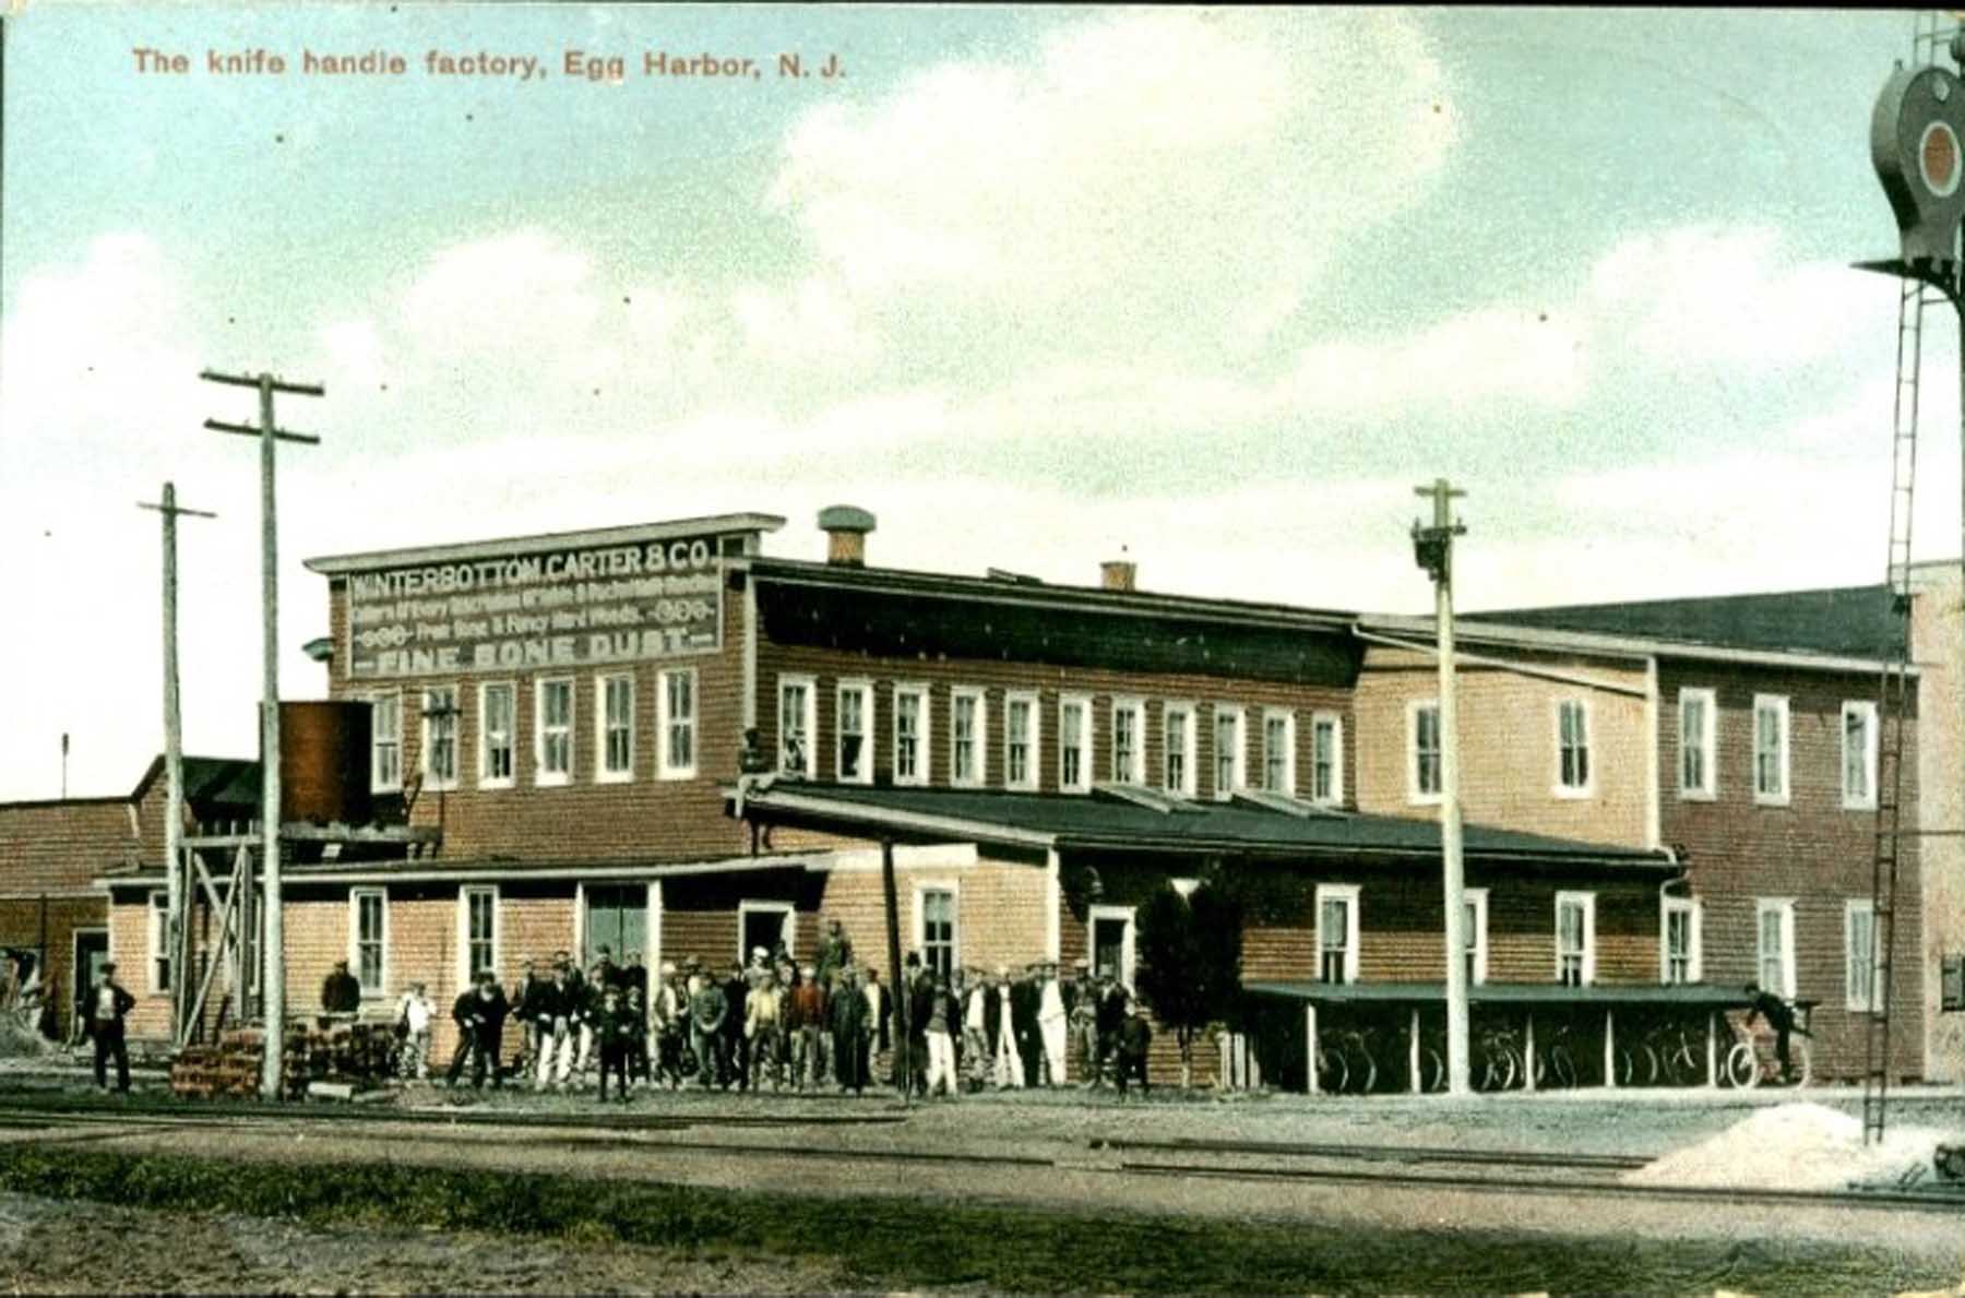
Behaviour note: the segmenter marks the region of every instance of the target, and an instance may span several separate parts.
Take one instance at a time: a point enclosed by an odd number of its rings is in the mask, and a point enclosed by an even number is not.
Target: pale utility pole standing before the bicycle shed
[[[1413,556],[1432,577],[1432,624],[1440,650],[1440,870],[1446,882],[1446,1090],[1468,1084],[1466,862],[1460,856],[1460,707],[1454,697],[1454,522],[1456,491],[1444,477],[1415,495],[1432,499],[1432,526],[1413,524]]]

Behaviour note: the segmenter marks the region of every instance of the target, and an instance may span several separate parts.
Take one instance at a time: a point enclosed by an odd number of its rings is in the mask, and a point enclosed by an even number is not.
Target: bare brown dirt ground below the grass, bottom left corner
[[[810,1294],[814,1259],[686,1257],[621,1243],[389,1227],[312,1229],[0,1194],[0,1288],[35,1294]],[[847,1290],[849,1292],[849,1290]]]

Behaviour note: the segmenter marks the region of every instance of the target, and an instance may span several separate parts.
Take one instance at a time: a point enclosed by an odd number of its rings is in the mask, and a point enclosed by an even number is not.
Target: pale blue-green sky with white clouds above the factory
[[[326,691],[309,556],[760,511],[815,560],[833,503],[880,566],[1096,583],[1124,552],[1142,589],[1423,613],[1413,487],[1448,477],[1462,609],[1879,581],[1898,289],[1849,263],[1896,253],[1869,120],[1910,41],[1906,12],[29,0],[0,801],[59,795],[65,732],[77,795],[161,750],[167,479],[218,514],[181,524],[187,750],[257,748],[257,454],[202,428],[255,397],[204,367],[326,387],[279,401],[322,438],[279,461],[295,699]],[[1926,560],[1959,554],[1955,348],[1939,312]]]

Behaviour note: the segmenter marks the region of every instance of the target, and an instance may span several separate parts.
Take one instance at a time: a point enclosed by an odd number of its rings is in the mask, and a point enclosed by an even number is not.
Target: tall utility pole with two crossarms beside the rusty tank
[[[265,668],[265,699],[259,703],[259,850],[265,858],[265,956],[261,966],[265,1066],[259,1072],[259,1094],[267,1100],[279,1100],[285,1092],[287,1072],[287,929],[279,892],[279,530],[273,509],[273,446],[277,442],[320,446],[320,438],[275,428],[273,393],[326,397],[328,389],[318,383],[287,383],[269,373],[228,375],[204,369],[198,377],[208,383],[259,389],[257,428],[226,424],[216,418],[204,420],[204,426],[212,432],[259,438],[259,603]],[[252,895],[250,884],[246,893]]]

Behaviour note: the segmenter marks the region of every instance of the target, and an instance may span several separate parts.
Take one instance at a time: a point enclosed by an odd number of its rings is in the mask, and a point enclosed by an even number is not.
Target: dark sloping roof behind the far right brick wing
[[[1462,617],[1468,622],[1841,658],[1882,658],[1904,644],[1904,619],[1892,613],[1890,587],[1881,583],[1768,595],[1493,609]]]

